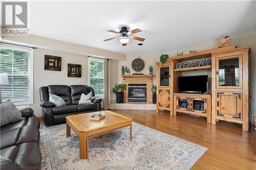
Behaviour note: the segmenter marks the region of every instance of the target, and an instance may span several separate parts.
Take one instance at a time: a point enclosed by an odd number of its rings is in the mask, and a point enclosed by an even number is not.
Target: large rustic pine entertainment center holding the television
[[[211,59],[211,65],[190,67],[189,64],[188,68],[176,68],[177,63],[201,59]],[[216,120],[226,120],[242,124],[243,131],[248,131],[250,47],[230,45],[170,57],[166,63],[158,62],[156,65],[157,112],[163,109],[174,116],[178,113],[200,115],[207,117],[207,123],[212,125],[216,124]],[[208,88],[206,94],[180,93],[177,88],[178,77],[185,71],[190,71],[190,75],[198,75],[198,70],[208,70],[211,89]]]

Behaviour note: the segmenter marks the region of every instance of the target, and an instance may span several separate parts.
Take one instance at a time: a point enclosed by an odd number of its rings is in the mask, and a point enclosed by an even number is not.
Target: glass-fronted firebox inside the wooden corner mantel
[[[127,83],[128,102],[146,102],[147,83]]]

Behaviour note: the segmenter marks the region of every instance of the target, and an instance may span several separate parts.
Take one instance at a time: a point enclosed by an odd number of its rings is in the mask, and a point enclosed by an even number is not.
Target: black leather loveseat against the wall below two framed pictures
[[[78,105],[82,93],[92,92],[92,96],[95,96],[94,89],[87,85],[49,85],[40,87],[39,92],[45,125],[64,124],[68,115],[101,110],[102,99],[100,98],[93,98],[92,103]],[[55,106],[49,102],[49,93],[60,96],[66,106]]]

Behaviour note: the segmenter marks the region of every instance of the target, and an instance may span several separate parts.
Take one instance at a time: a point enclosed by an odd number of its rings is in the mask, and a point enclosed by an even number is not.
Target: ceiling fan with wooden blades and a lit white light
[[[126,43],[129,42],[129,40],[131,38],[135,39],[135,40],[138,40],[138,41],[144,41],[145,40],[145,38],[140,38],[140,37],[136,37],[136,36],[132,35],[132,34],[141,32],[140,29],[135,29],[133,31],[129,31],[129,30],[127,30],[127,27],[122,27],[119,32],[116,32],[116,31],[113,31],[113,30],[109,30],[109,32],[119,34],[119,36],[109,38],[109,39],[105,39],[104,41],[109,41],[109,40],[112,40],[112,39],[118,39],[122,43],[122,46],[125,46]]]

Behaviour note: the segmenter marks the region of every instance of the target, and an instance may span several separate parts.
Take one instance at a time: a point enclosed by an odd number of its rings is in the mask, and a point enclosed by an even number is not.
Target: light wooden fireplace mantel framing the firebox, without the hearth
[[[123,84],[128,83],[146,83],[147,84],[147,96],[146,96],[146,103],[152,103],[152,85],[153,85],[153,77],[154,75],[122,75],[123,77]],[[124,102],[128,102],[128,92],[127,86],[124,90],[123,100]]]

